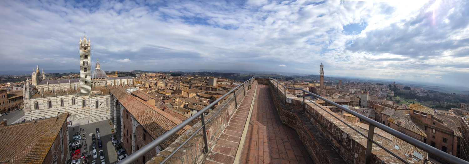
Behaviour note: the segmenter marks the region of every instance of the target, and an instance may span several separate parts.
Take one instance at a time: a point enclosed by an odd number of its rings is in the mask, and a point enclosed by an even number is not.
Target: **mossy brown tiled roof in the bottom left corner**
[[[68,113],[0,127],[0,163],[43,163]]]

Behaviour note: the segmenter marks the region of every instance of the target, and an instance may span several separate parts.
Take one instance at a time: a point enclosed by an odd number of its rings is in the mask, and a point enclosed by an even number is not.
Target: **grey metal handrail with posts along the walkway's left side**
[[[199,132],[202,128],[204,129],[203,130],[203,133],[204,133],[204,151],[205,153],[208,152],[208,144],[207,144],[207,135],[206,135],[206,131],[205,131],[205,121],[204,121],[204,112],[207,111],[208,109],[210,109],[213,105],[217,104],[220,100],[222,100],[223,98],[225,98],[227,95],[231,94],[231,93],[234,93],[234,100],[236,101],[236,94],[238,94],[240,91],[238,91],[238,93],[236,93],[236,89],[238,89],[239,87],[243,87],[244,88],[244,84],[248,83],[248,86],[250,88],[251,84],[253,83],[253,79],[254,79],[255,76],[253,76],[252,78],[250,78],[249,80],[246,80],[245,82],[243,82],[242,84],[240,84],[239,86],[236,86],[235,88],[233,88],[231,91],[229,91],[228,93],[224,94],[223,96],[221,96],[219,99],[215,100],[214,102],[212,102],[210,105],[206,106],[204,109],[198,111],[196,114],[192,115],[191,117],[187,118],[186,120],[182,121],[181,124],[179,125],[176,125],[174,126],[171,130],[167,131],[166,133],[164,133],[163,135],[159,136],[158,138],[156,138],[155,140],[151,141],[150,143],[148,143],[147,145],[145,145],[143,148],[140,148],[139,150],[137,150],[136,152],[134,152],[132,155],[124,158],[121,162],[119,162],[119,164],[131,164],[133,163],[134,161],[136,161],[138,158],[144,156],[146,153],[148,153],[149,151],[151,150],[154,150],[154,148],[156,148],[159,144],[163,143],[164,141],[166,141],[169,137],[173,136],[173,134],[179,132],[184,126],[186,125],[189,125],[190,122],[192,122],[193,120],[195,120],[197,117],[201,117],[201,121],[202,121],[202,126],[197,130],[197,132]],[[229,100],[231,101],[233,99],[233,97]],[[229,102],[227,101],[227,103]],[[227,104],[225,103],[225,105]],[[223,107],[225,107],[225,105],[223,105]],[[237,102],[236,102],[236,108],[238,107],[237,105]],[[220,109],[223,109],[223,107],[221,107]],[[220,111],[220,109],[214,113],[212,115],[212,117],[207,120],[210,121],[212,120],[212,118]],[[195,134],[197,134],[197,132],[195,132],[194,134],[192,134],[190,136],[190,138],[192,138],[193,136],[195,136]],[[189,138],[189,139],[190,139]],[[165,163],[166,160],[169,159],[169,157],[173,156],[173,154],[179,150],[179,148],[181,148],[185,143],[187,143],[187,141],[189,141],[189,139],[187,139],[186,141],[183,142],[183,144],[181,146],[179,146],[178,148],[176,148],[173,153],[170,154],[170,156],[167,156],[165,158],[164,161],[162,161],[161,163]]]

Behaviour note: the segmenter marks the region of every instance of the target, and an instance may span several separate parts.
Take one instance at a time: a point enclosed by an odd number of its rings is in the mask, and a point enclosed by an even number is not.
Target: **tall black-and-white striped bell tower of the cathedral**
[[[80,93],[91,92],[91,42],[80,38]]]

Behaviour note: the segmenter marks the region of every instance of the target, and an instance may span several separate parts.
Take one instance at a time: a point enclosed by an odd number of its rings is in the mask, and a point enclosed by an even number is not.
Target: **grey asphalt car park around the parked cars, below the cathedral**
[[[73,128],[75,128],[75,130],[73,130]],[[80,128],[84,129],[83,131],[80,132],[80,135],[82,136],[82,148],[80,149],[80,154],[81,152],[83,151],[87,151],[88,152],[88,155],[91,155],[88,157],[88,162],[91,164],[91,162],[93,160],[96,160],[96,164],[100,164],[101,162],[101,159],[99,159],[99,150],[103,150],[104,151],[104,159],[106,160],[106,164],[116,164],[117,163],[117,153],[116,153],[116,150],[114,149],[114,146],[111,142],[111,136],[114,136],[116,135],[116,131],[114,129],[114,133],[112,133],[112,129],[114,128],[113,125],[111,125],[110,121],[109,120],[106,120],[106,121],[99,121],[99,122],[95,122],[95,123],[90,123],[90,124],[86,124],[86,125],[79,125],[79,126],[74,126],[74,127],[69,127],[68,128],[68,133],[69,133],[69,141],[72,141],[72,144],[74,143],[73,142],[73,134],[77,131],[80,131]],[[93,159],[93,155],[92,155],[92,148],[91,148],[91,145],[92,145],[92,139],[91,139],[91,135],[92,134],[95,134],[96,135],[96,128],[99,128],[99,133],[101,135],[101,141],[102,141],[102,144],[103,144],[103,147],[102,148],[98,148],[98,139],[96,139],[96,152],[98,153],[98,157]],[[85,134],[85,138],[86,140],[83,140],[83,133],[86,133]],[[96,136],[97,137],[97,136]],[[85,143],[87,144],[86,145],[86,150],[84,148],[84,145]],[[71,147],[70,147],[70,150],[71,150]],[[69,153],[69,155],[71,155],[71,152]],[[70,158],[71,159],[71,158]],[[68,162],[69,164],[70,162]]]

